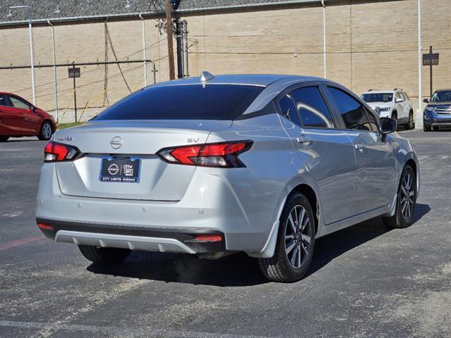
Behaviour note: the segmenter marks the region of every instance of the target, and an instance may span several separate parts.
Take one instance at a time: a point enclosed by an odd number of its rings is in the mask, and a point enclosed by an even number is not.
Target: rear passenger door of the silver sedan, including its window
[[[325,224],[354,215],[353,146],[347,134],[335,128],[319,84],[292,88],[276,106],[296,153],[318,184]]]

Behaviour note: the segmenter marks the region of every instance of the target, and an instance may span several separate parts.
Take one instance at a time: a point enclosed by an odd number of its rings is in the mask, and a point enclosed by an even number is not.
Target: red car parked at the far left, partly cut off
[[[16,94],[0,92],[0,142],[23,136],[47,140],[55,130],[52,115]]]

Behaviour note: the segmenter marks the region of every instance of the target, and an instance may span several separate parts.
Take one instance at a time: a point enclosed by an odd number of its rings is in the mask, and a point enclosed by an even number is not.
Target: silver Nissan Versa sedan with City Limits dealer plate
[[[378,216],[411,225],[419,163],[396,125],[317,77],[155,84],[56,132],[37,225],[96,263],[244,251],[270,280],[296,281],[318,237]]]

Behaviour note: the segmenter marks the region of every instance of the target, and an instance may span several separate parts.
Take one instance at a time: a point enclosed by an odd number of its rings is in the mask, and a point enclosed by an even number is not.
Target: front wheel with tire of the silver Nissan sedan
[[[383,217],[383,223],[388,227],[400,229],[412,224],[416,204],[416,176],[410,165],[402,170],[399,182],[396,211],[391,217]]]

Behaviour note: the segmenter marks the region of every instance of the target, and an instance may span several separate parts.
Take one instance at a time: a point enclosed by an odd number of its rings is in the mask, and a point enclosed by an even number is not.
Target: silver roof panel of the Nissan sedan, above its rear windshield
[[[188,77],[185,79],[172,80],[153,84],[152,87],[167,87],[186,84],[241,84],[267,87],[279,80],[297,80],[297,82],[324,80],[320,77],[301,76],[301,75],[276,75],[276,74],[237,74],[237,75],[213,75],[211,80],[200,81],[200,76]]]

